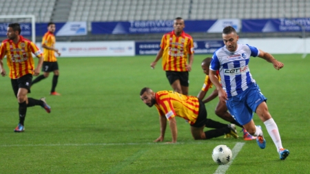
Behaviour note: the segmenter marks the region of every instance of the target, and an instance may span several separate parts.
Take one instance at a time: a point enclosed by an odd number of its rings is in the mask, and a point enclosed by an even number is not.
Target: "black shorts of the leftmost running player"
[[[32,81],[32,74],[26,74],[25,76],[21,76],[20,78],[11,79],[11,84],[15,96],[17,97],[19,88],[28,89],[28,93],[30,93],[31,81]]]

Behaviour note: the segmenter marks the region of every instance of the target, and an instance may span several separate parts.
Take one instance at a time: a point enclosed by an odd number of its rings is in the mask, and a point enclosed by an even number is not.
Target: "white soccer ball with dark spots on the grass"
[[[212,151],[212,159],[217,164],[227,164],[232,159],[231,150],[226,145],[218,145]]]

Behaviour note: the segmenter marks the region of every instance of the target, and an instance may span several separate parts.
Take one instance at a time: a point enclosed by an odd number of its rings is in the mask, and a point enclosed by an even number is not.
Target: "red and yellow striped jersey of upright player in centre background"
[[[187,72],[187,54],[194,54],[194,42],[192,36],[184,31],[176,36],[174,31],[163,35],[161,39],[163,49],[163,70],[174,72]]]

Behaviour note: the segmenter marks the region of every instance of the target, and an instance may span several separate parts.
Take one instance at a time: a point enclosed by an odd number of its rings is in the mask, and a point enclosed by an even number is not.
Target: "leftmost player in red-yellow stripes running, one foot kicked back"
[[[8,25],[7,36],[0,46],[0,72],[2,76],[6,76],[6,70],[3,68],[3,58],[6,56],[7,64],[10,69],[10,78],[15,96],[19,102],[19,124],[14,129],[15,132],[24,131],[24,120],[27,107],[39,105],[50,113],[50,107],[46,104],[45,98],[36,100],[28,98],[30,85],[33,76],[40,74],[43,63],[42,52],[37,45],[23,38],[21,34],[21,26],[19,23],[10,23]],[[34,60],[32,53],[39,58],[39,63],[34,68]]]

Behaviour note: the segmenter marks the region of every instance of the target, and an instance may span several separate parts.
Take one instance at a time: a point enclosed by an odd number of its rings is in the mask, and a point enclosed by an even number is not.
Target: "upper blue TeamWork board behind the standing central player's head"
[[[222,32],[225,26],[240,30],[240,19],[185,21],[185,32]],[[174,30],[173,20],[92,22],[92,34],[166,33]]]

